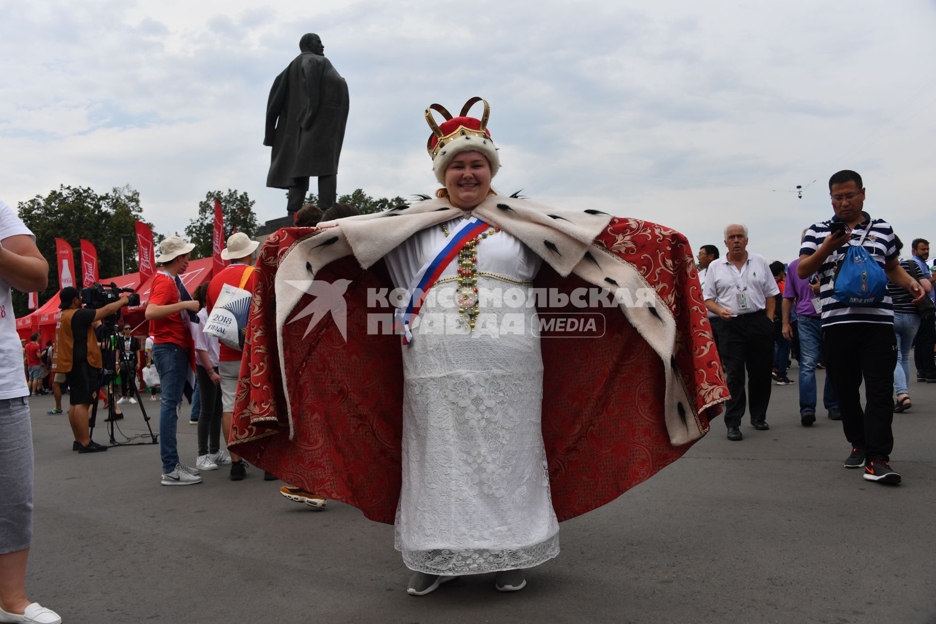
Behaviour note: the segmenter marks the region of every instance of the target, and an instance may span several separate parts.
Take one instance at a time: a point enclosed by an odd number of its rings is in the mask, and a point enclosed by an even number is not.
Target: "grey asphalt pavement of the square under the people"
[[[27,587],[68,624],[936,622],[936,385],[912,391],[895,418],[900,486],[845,470],[840,424],[801,427],[797,386],[774,386],[769,431],[730,443],[716,420],[688,457],[563,523],[562,555],[528,588],[499,594],[488,574],[424,598],[403,591],[391,527],[286,501],[256,469],[160,486],[158,446],[79,456],[42,397]],[[155,426],[158,403],[144,405]],[[124,433],[145,430],[124,407]],[[179,435],[191,464],[195,429]]]

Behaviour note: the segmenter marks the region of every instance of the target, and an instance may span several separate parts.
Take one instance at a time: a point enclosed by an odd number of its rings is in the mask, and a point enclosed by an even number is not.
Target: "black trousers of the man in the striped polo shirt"
[[[853,446],[869,456],[894,449],[894,367],[897,338],[889,323],[840,323],[823,327],[826,374],[839,401],[841,427]],[[859,389],[865,385],[865,409]]]

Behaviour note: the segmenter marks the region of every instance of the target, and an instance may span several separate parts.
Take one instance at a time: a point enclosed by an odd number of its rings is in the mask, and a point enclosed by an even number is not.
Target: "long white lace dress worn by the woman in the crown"
[[[385,256],[395,285],[405,289],[445,238],[431,227]],[[455,261],[402,347],[395,545],[424,573],[529,568],[559,554],[540,428],[543,360],[535,307],[526,305],[542,260],[505,232],[480,240],[476,257],[475,331],[457,327]]]

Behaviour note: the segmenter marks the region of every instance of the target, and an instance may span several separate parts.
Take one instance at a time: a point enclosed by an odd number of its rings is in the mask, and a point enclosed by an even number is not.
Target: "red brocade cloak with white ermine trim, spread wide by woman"
[[[267,240],[257,260],[231,450],[288,483],[393,523],[402,481],[402,347],[399,335],[368,331],[369,313],[387,313],[369,301],[368,290],[392,285],[379,259],[386,250],[365,249],[360,232],[382,232],[389,249],[412,233],[401,224],[420,229],[430,221],[442,223],[452,214],[436,213],[446,209],[458,211],[445,200],[431,200],[411,207],[409,222],[375,223],[396,216],[388,211],[324,227],[285,228]],[[547,212],[545,225],[537,221]],[[566,308],[603,313],[601,337],[542,333],[543,441],[560,521],[613,501],[682,456],[708,432],[709,420],[728,399],[686,239],[661,225],[607,216],[594,229],[597,236],[584,237],[591,245],[578,249],[574,238],[582,237],[576,228],[587,229],[596,211],[585,212],[577,219],[580,212],[503,197],[489,198],[474,211],[543,256],[536,288],[570,293],[608,276],[601,285],[655,291],[655,307]],[[558,227],[552,239],[562,241],[562,258],[550,259],[546,250],[555,245],[537,247],[539,240],[549,243],[542,234],[550,227]],[[301,267],[315,281],[350,281],[344,292],[346,341],[330,312],[314,327],[286,321],[314,300],[302,294],[285,301],[287,289],[277,272],[286,272],[287,265],[298,277]]]

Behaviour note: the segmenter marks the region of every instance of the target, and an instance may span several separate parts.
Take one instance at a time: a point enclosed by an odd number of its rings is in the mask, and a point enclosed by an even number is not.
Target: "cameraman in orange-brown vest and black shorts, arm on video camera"
[[[98,453],[107,446],[91,441],[88,434],[88,410],[97,399],[101,377],[101,350],[97,346],[94,324],[120,311],[130,303],[121,297],[103,308],[90,310],[81,307],[78,288],[66,286],[59,294],[62,316],[55,326],[55,353],[52,371],[64,372],[71,387],[68,397],[68,422],[79,444],[79,453]]]

